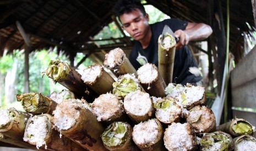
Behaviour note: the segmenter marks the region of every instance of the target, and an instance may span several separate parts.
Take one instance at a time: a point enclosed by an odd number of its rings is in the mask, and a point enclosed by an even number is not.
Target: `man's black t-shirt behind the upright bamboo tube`
[[[156,22],[150,25],[152,37],[149,46],[142,49],[140,42],[136,41],[132,52],[130,53],[130,63],[138,70],[145,63],[152,63],[158,66],[158,38],[162,34],[164,26],[168,25],[173,32],[181,29],[185,30],[188,23],[179,19],[166,19],[161,22]],[[201,80],[201,77],[195,77],[189,72],[189,67],[197,67],[193,56],[187,47],[177,49],[175,52],[175,63],[173,67],[172,82],[177,84],[196,83]]]

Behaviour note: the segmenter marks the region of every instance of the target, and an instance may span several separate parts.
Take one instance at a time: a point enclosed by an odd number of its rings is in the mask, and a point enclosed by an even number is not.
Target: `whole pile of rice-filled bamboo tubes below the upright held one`
[[[0,111],[0,141],[39,150],[253,150],[255,127],[232,119],[216,127],[205,89],[169,83],[155,65],[138,71],[123,50],[79,74],[51,61],[43,74],[67,88],[17,95],[26,112]]]

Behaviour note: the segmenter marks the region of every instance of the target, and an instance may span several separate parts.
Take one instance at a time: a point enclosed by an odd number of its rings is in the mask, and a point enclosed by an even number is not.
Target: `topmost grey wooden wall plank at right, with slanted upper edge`
[[[244,83],[256,79],[256,47],[254,47],[231,72],[231,88],[235,89]]]

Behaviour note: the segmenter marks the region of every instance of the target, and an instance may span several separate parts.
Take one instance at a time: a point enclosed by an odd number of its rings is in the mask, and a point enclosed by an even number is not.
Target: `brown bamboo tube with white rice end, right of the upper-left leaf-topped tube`
[[[100,65],[92,65],[84,70],[81,79],[97,94],[106,94],[113,90],[115,80]]]

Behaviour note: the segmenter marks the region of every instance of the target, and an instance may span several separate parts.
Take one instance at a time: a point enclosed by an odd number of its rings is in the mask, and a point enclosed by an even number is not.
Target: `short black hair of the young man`
[[[130,13],[135,9],[139,9],[143,15],[146,15],[145,8],[140,0],[118,0],[113,8],[113,13],[119,18],[124,13]]]

